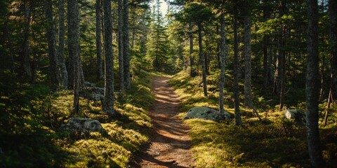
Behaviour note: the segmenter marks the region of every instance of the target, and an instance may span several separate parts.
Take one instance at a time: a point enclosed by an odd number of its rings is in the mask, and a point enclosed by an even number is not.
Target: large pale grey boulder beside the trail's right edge
[[[225,113],[220,114],[218,110],[211,109],[209,107],[193,107],[187,112],[183,120],[190,118],[201,118],[204,120],[213,120],[219,122],[220,120],[227,120],[230,118],[230,113],[225,111]]]

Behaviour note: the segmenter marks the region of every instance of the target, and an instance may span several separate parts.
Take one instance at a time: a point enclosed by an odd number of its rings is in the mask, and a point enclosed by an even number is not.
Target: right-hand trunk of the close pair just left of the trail
[[[124,21],[124,34],[123,34],[123,64],[124,64],[124,85],[126,89],[129,89],[131,87],[131,81],[130,81],[130,45],[128,43],[129,41],[129,35],[128,35],[128,0],[123,1],[123,21]]]

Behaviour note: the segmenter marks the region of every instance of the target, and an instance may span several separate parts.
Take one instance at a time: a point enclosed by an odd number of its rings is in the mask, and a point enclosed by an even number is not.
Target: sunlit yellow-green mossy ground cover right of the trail
[[[180,95],[183,107],[181,118],[194,106],[218,107],[218,73],[208,78],[209,97],[202,94],[201,77],[190,78],[187,72],[178,73],[170,81]],[[229,75],[227,75],[229,76]],[[230,80],[225,87],[225,110],[234,113]],[[240,85],[241,91],[243,90]],[[305,108],[302,90],[293,90],[286,96],[289,108]],[[253,90],[254,104],[263,118],[258,121],[253,112],[240,104],[243,125],[235,126],[234,120],[216,123],[211,120],[190,119],[185,123],[191,127],[192,152],[195,167],[310,167],[305,140],[305,127],[286,120],[284,112],[277,111],[277,97]],[[299,97],[296,97],[299,95]],[[240,102],[244,97],[240,96]],[[296,99],[296,101],[291,101]],[[322,105],[323,108],[324,105]],[[322,109],[321,108],[321,109]],[[322,123],[322,113],[320,114]],[[337,127],[330,116],[330,125],[320,128],[323,156],[327,167],[335,167],[337,160]]]

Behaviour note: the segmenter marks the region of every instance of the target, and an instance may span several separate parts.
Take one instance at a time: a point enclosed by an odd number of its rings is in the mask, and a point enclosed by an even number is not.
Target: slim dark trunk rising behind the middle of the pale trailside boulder
[[[199,57],[202,69],[202,83],[204,87],[204,96],[207,97],[206,62],[204,60],[204,52],[202,51],[201,23],[198,23],[198,36],[199,36]]]

